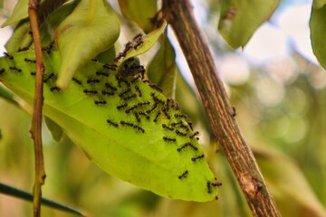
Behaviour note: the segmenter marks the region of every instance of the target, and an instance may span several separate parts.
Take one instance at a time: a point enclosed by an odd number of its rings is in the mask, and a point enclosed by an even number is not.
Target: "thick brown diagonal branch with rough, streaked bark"
[[[192,6],[187,0],[164,0],[163,14],[177,34],[214,136],[223,147],[253,215],[281,216],[237,126],[235,109],[231,107],[223,83],[217,76],[212,54],[197,26]]]

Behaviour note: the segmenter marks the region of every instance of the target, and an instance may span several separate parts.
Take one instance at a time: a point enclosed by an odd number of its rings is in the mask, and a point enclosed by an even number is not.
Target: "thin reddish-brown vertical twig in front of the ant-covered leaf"
[[[43,107],[43,55],[42,44],[39,32],[39,24],[37,17],[37,8],[39,1],[30,0],[28,14],[30,17],[31,28],[34,39],[35,55],[36,55],[36,79],[34,93],[34,111],[32,118],[31,135],[34,139],[34,156],[35,156],[35,181],[33,189],[33,208],[34,217],[41,215],[41,197],[42,185],[45,180],[45,171],[43,164],[43,145],[42,145],[42,107]]]

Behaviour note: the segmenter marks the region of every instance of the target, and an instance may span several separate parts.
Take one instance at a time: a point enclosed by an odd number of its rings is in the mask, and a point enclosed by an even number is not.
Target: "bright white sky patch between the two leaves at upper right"
[[[261,26],[245,46],[244,54],[256,61],[282,58],[294,49],[317,63],[310,42],[309,19],[312,2],[288,5]],[[267,42],[266,42],[267,41]]]

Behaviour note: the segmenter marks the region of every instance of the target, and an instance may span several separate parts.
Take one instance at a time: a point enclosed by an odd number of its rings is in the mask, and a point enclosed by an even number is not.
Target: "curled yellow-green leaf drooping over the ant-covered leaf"
[[[85,61],[110,48],[120,34],[117,14],[104,0],[84,0],[55,33],[62,66],[57,86],[65,89]]]

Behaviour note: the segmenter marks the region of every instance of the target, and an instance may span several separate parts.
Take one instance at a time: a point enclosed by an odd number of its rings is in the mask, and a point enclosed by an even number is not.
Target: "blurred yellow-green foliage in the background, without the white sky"
[[[216,1],[207,4],[207,24],[214,24],[218,6]],[[212,38],[208,35],[208,39]],[[211,40],[211,45],[218,52],[216,59],[235,53],[218,40]],[[296,52],[289,58],[294,62],[290,79],[277,79],[277,72],[262,65],[250,69],[245,83],[225,85],[245,139],[283,216],[326,216],[326,71]],[[286,71],[286,67],[280,70]],[[196,90],[189,90],[190,86],[187,91],[178,90],[184,85],[184,80],[177,78],[177,99],[189,116],[197,117],[196,127],[206,129],[203,146],[207,160],[223,182],[217,202],[168,200],[123,183],[91,164],[68,137],[54,142],[45,127],[43,196],[79,207],[91,216],[251,216],[223,153],[209,139],[202,105],[193,98]],[[25,190],[31,190],[34,182],[30,124],[30,115],[0,99],[0,182]],[[0,194],[0,216],[32,216],[31,210],[31,203]],[[43,216],[72,215],[44,207]]]

